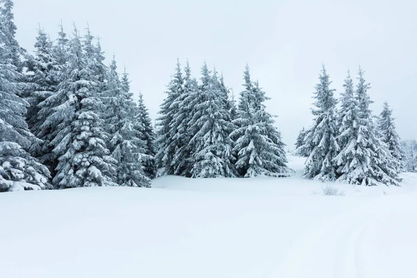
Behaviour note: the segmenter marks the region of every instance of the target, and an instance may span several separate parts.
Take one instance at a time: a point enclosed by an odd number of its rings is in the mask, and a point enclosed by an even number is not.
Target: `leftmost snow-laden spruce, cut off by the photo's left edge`
[[[47,189],[47,167],[27,152],[38,139],[24,119],[28,103],[19,97],[22,75],[13,60],[15,45],[10,44],[14,33],[6,33],[8,28],[0,20],[0,192]]]

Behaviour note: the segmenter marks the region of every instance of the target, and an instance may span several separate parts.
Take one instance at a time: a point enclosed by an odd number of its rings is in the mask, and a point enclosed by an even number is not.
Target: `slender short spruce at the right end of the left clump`
[[[142,156],[143,172],[150,179],[156,177],[156,164],[155,164],[155,133],[154,126],[152,126],[151,117],[149,117],[148,108],[143,101],[142,92],[139,93],[137,113],[135,117],[136,122],[142,126],[142,132],[140,139],[145,142],[145,156]]]

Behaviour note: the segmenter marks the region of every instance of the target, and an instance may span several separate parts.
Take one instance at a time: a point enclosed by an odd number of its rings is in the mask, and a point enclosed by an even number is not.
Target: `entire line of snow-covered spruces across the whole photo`
[[[149,187],[161,175],[190,178],[286,177],[285,145],[267,112],[270,99],[246,66],[235,101],[224,77],[204,63],[197,80],[177,65],[156,124],[129,75],[106,65],[99,40],[62,24],[51,40],[39,28],[35,51],[15,39],[13,1],[0,0],[0,192],[85,186]],[[300,132],[304,176],[353,184],[398,185],[417,169],[415,142],[400,144],[392,111],[370,111],[359,69],[334,97],[323,66],[313,124]],[[404,151],[405,149],[405,151]]]

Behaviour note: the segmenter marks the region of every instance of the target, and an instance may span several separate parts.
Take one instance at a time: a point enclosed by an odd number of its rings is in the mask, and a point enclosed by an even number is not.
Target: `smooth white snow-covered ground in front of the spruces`
[[[417,174],[397,187],[162,177],[0,194],[0,277],[417,277]]]

